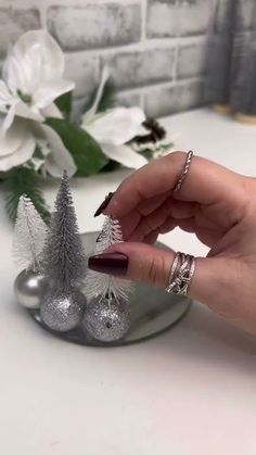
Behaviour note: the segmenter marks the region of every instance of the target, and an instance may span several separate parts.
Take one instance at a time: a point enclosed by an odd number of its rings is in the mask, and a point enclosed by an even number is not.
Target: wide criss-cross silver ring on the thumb
[[[176,253],[172,262],[166,292],[187,295],[195,269],[195,258],[190,254]]]

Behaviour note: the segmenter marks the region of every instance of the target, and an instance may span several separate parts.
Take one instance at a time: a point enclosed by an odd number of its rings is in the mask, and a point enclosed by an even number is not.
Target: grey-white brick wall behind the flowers
[[[104,64],[120,103],[168,115],[206,102],[209,34],[221,47],[232,1],[0,0],[0,60],[25,30],[47,27],[65,51],[66,75],[76,83],[76,115]],[[253,2],[244,0],[241,24],[249,24]]]

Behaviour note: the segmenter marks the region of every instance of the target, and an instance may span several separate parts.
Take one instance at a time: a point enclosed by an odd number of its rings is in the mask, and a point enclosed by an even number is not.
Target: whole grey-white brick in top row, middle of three
[[[140,2],[49,7],[47,25],[68,51],[128,45],[140,40]]]

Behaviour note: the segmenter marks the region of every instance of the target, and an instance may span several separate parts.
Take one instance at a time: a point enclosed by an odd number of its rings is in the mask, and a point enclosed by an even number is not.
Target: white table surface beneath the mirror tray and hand
[[[256,127],[207,110],[163,122],[170,134],[180,132],[177,149],[256,175]],[[73,181],[81,230],[100,227],[92,214],[126,174]],[[47,190],[50,203],[54,191]],[[12,229],[2,199],[0,216],[2,455],[256,454],[256,339],[194,304],[180,325],[142,344],[62,342],[14,302]],[[180,231],[165,241],[206,251]]]

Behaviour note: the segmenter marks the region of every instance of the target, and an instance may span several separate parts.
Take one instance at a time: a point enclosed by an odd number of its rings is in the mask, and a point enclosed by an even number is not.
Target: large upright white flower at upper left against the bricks
[[[64,54],[46,30],[25,33],[11,48],[0,80],[0,112],[5,114],[3,130],[14,117],[43,122],[46,116],[60,116],[53,101],[74,89],[65,80]]]

